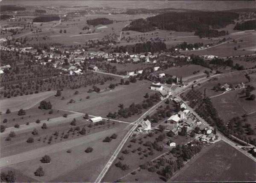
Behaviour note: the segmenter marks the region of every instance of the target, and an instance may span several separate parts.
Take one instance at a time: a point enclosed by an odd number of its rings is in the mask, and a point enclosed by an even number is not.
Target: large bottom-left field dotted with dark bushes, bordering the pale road
[[[43,182],[82,182],[95,181],[105,163],[109,159],[109,154],[113,153],[122,136],[125,134],[127,126],[122,123],[114,128],[88,134],[76,139],[67,140],[64,142],[48,145],[47,147],[30,150],[18,155],[1,158],[6,160],[11,158],[16,161],[17,158],[25,160],[11,165],[15,172],[25,174],[29,180],[37,180]],[[102,140],[108,135],[116,133],[118,136],[110,143],[104,143]],[[84,150],[87,147],[92,147],[93,152],[86,153]],[[71,153],[67,153],[70,149]],[[47,154],[51,157],[52,161],[49,164],[40,163],[41,157]],[[39,165],[38,165],[39,164]],[[68,166],[67,166],[68,165]],[[34,172],[42,166],[45,172],[43,177],[35,177]],[[5,169],[3,169],[4,171]],[[54,171],[53,171],[54,170]],[[86,174],[84,174],[86,172]],[[72,174],[72,176],[70,176]],[[47,176],[46,176],[47,175]],[[74,179],[75,177],[75,179]],[[16,181],[20,181],[17,177]]]

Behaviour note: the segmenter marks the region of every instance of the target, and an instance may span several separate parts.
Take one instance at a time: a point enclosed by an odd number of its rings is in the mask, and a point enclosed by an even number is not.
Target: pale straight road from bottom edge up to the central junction
[[[167,98],[166,98],[167,99]],[[165,100],[166,100],[165,99]],[[105,174],[108,172],[108,169],[110,168],[110,166],[112,165],[113,161],[116,159],[117,154],[121,151],[122,147],[124,146],[125,142],[128,140],[128,138],[131,136],[132,132],[134,132],[134,130],[137,128],[137,126],[143,121],[143,119],[150,114],[151,112],[154,112],[155,109],[157,109],[157,107],[159,107],[160,105],[162,105],[165,100],[162,100],[161,102],[157,103],[156,105],[154,105],[151,109],[149,109],[147,112],[145,112],[139,119],[137,119],[134,125],[129,131],[128,133],[125,135],[125,137],[123,138],[122,142],[119,144],[119,146],[117,147],[116,151],[112,154],[110,160],[108,161],[108,163],[105,165],[105,167],[102,169],[102,172],[99,174],[99,176],[97,177],[97,179],[95,180],[96,183],[99,183],[102,181],[102,178],[105,176]]]

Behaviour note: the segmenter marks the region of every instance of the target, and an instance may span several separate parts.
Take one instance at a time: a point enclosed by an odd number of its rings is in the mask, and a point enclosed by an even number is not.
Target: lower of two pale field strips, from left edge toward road
[[[118,130],[118,129],[117,128],[108,129],[103,132],[86,135],[81,138],[68,140],[68,141],[61,142],[61,143],[56,143],[56,144],[53,144],[50,146],[34,149],[31,151],[23,152],[20,154],[15,154],[15,155],[8,156],[8,157],[3,157],[3,158],[0,158],[0,167],[9,166],[9,165],[16,164],[16,163],[21,163],[24,161],[32,160],[36,157],[44,156],[45,154],[63,151],[65,149],[70,149],[74,146],[79,146],[82,144],[91,143],[91,142],[99,140],[99,139],[104,139],[107,135],[115,133],[116,130]]]

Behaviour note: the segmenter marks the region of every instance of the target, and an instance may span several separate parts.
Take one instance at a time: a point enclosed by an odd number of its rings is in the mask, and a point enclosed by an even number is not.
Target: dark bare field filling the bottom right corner
[[[216,146],[215,146],[216,145]],[[220,141],[195,162],[188,163],[174,182],[255,181],[255,162],[229,144]]]

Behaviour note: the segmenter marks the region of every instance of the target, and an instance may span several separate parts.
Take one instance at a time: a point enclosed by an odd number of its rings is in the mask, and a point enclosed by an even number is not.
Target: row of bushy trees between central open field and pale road
[[[142,104],[134,104],[132,103],[129,107],[125,108],[123,104],[119,104],[119,110],[118,112],[109,112],[107,117],[116,118],[118,116],[128,118],[131,117],[134,114],[140,114],[142,109],[148,109],[152,106],[154,106],[154,103],[159,102],[160,94],[155,93],[152,94],[148,99],[144,100]]]

